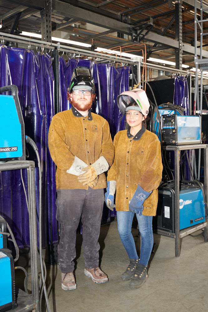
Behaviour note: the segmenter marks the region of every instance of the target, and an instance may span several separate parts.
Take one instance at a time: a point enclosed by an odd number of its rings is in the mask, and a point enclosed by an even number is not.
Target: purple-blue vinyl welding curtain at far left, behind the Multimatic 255
[[[48,128],[54,115],[54,74],[51,56],[32,50],[0,46],[0,86],[17,85],[25,123],[25,134],[37,145],[42,171],[43,247],[57,242],[55,165],[47,147]],[[39,176],[37,159],[26,144],[29,160],[35,161],[36,207],[39,215]],[[27,171],[22,170],[27,189]],[[28,212],[20,170],[0,173],[0,214],[7,220],[18,246],[30,246]],[[37,226],[38,226],[37,220]],[[39,231],[38,231],[39,232]],[[39,242],[38,242],[39,243]]]

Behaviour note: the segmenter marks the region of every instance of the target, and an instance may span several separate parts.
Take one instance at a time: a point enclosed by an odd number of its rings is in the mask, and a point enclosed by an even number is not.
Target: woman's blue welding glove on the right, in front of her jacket
[[[151,192],[146,192],[143,188],[138,185],[132,199],[129,202],[129,211],[138,213],[139,215],[143,212],[143,203],[150,196]]]

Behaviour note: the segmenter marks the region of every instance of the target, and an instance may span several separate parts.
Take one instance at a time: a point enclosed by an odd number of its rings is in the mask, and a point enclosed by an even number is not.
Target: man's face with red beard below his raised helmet
[[[80,90],[85,90],[85,88],[80,86]],[[93,95],[84,95],[82,92],[80,95],[76,95],[73,91],[69,94],[71,105],[74,106],[77,110],[84,112],[89,110],[92,106],[92,97]]]

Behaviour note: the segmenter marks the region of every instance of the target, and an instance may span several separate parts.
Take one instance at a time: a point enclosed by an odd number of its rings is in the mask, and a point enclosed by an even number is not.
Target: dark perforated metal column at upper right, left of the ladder
[[[182,69],[182,0],[175,2],[175,18],[176,18],[176,40],[179,41],[179,48],[175,49],[176,68]]]

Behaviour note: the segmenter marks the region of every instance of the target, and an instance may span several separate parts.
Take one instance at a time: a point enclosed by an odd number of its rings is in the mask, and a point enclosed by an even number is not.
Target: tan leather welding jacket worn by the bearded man
[[[57,166],[57,189],[88,189],[88,185],[82,185],[77,176],[66,173],[75,156],[88,165],[104,156],[111,166],[114,159],[114,145],[108,122],[90,111],[83,117],[73,106],[53,117],[48,132],[48,147]],[[106,186],[105,174],[102,173],[95,189]]]

